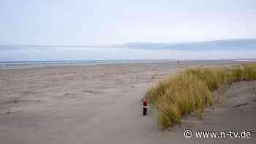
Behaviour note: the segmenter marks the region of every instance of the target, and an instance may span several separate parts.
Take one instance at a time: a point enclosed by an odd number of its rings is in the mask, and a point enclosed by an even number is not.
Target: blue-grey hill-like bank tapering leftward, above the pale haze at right
[[[189,43],[130,42],[124,46],[129,48],[167,50],[256,50],[256,39],[228,39]]]

